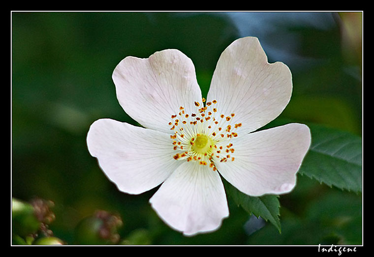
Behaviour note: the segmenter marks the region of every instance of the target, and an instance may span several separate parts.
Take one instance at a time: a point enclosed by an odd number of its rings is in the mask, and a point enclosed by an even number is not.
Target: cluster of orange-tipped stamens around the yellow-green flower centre
[[[202,102],[205,101],[203,98]],[[242,123],[234,123],[234,113],[218,114],[215,104],[217,100],[198,109],[201,104],[194,102],[195,113],[186,113],[181,106],[178,114],[171,115],[168,125],[174,131],[170,138],[176,151],[175,160],[196,161],[200,165],[209,165],[213,171],[217,170],[215,163],[235,160],[231,140],[238,137],[235,130]]]

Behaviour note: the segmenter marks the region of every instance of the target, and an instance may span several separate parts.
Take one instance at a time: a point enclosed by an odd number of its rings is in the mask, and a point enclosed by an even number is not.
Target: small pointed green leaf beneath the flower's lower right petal
[[[263,218],[273,224],[280,232],[279,208],[280,203],[278,196],[264,195],[261,197],[251,197],[236,189],[227,181],[224,181],[227,194],[239,206],[242,206],[249,214]]]

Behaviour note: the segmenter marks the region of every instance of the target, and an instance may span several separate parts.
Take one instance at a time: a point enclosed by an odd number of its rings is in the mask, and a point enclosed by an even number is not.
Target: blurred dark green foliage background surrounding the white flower
[[[230,217],[218,231],[185,237],[151,209],[156,189],[119,192],[86,146],[98,118],[136,124],[111,80],[121,59],[179,49],[194,62],[206,96],[220,53],[244,36],[257,36],[269,61],[292,71],[293,96],[282,118],[361,136],[360,13],[13,12],[11,19],[12,196],[52,200],[54,236],[74,244],[80,222],[106,210],[121,217],[123,244],[362,243],[361,193],[301,175],[279,198],[281,234],[271,224],[249,234],[249,214],[229,198]]]

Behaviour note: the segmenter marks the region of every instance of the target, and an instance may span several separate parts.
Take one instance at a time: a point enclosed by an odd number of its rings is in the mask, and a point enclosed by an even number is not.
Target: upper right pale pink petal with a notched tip
[[[220,114],[235,114],[239,129],[252,132],[275,119],[288,104],[292,75],[281,63],[268,63],[255,37],[231,43],[219,57],[207,100]]]

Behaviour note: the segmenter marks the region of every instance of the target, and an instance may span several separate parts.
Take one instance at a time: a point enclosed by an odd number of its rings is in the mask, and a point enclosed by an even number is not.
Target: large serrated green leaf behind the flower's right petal
[[[353,192],[362,191],[362,140],[348,132],[309,125],[312,145],[299,172]]]

